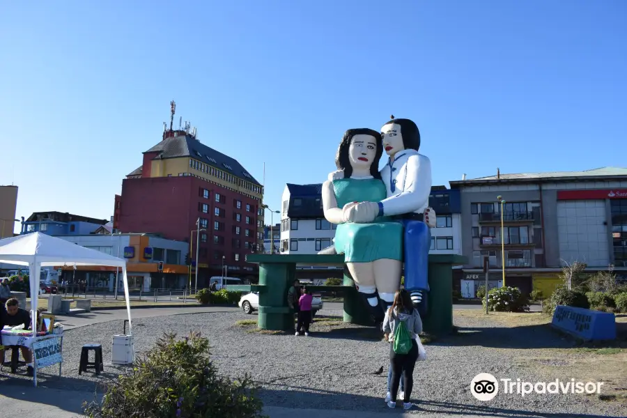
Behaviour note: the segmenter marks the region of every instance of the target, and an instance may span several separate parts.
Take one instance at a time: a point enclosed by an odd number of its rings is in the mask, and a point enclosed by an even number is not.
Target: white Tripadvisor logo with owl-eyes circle
[[[499,380],[504,394],[521,397],[536,394],[600,394],[603,382],[575,382],[555,379],[551,382],[524,382],[520,379],[497,379],[490,373],[479,373],[470,382],[470,393],[479,401],[491,401],[499,393]]]

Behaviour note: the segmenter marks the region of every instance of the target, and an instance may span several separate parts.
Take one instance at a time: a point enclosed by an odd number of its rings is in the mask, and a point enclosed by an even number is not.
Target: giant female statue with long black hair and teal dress
[[[381,134],[367,128],[347,130],[337,150],[336,166],[343,178],[323,183],[325,218],[337,224],[335,249],[344,254],[357,290],[377,322],[392,304],[401,281],[403,225],[385,217],[369,223],[347,222],[349,209],[386,197],[379,173],[383,153]]]

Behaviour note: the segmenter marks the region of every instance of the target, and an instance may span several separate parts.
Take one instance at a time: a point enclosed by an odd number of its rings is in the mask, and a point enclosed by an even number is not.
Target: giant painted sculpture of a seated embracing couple
[[[334,249],[359,294],[381,322],[401,286],[424,318],[427,312],[431,162],[418,153],[420,132],[409,119],[394,118],[381,132],[347,130],[337,150],[338,171],[323,184],[325,218],[337,224]],[[383,151],[389,157],[378,170]]]

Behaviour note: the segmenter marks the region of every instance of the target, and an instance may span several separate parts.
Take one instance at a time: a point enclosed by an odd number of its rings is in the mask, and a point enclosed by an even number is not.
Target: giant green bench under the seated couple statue
[[[261,330],[292,330],[294,318],[287,304],[287,293],[296,278],[297,265],[344,265],[343,254],[248,254],[248,263],[259,265],[258,285],[230,285],[227,291],[259,292],[257,326]],[[429,256],[429,311],[424,330],[445,334],[453,328],[453,266],[466,258],[452,254]],[[355,282],[344,268],[343,286],[307,286],[315,291],[341,291],[344,297],[343,320],[359,325],[373,325]]]

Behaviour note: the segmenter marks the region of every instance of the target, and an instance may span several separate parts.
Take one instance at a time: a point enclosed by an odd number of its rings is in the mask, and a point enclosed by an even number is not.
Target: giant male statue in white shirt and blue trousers
[[[377,216],[396,217],[405,226],[403,257],[405,288],[421,317],[427,313],[428,254],[431,247],[429,226],[435,226],[435,213],[428,208],[431,194],[431,161],[418,153],[420,132],[409,119],[394,118],[381,128],[383,147],[389,156],[381,170],[387,198],[380,202],[349,203],[344,208],[346,222],[367,223]],[[342,178],[341,171],[330,178]],[[389,306],[394,294],[380,294]]]

